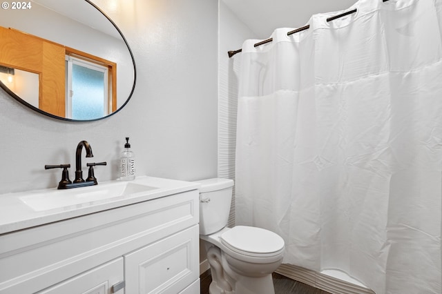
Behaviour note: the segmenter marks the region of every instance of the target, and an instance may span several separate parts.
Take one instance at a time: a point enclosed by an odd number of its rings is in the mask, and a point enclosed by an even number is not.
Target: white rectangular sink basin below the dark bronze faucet
[[[43,211],[97,202],[114,197],[130,196],[155,189],[157,187],[131,182],[113,182],[69,190],[50,190],[44,193],[22,196],[19,199],[33,210]]]

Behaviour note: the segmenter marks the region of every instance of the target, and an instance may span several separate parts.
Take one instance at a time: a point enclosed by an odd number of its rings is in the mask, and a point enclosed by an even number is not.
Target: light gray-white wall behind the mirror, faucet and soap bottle
[[[101,0],[100,0],[101,1]],[[94,1],[99,7],[100,1]],[[104,0],[103,0],[104,1]],[[137,175],[202,179],[217,173],[216,0],[122,0],[107,12],[122,30],[137,63],[131,101],[116,115],[72,123],[34,112],[0,89],[0,194],[57,186],[83,139],[95,157],[98,181],[117,177],[124,137],[131,137]],[[1,197],[1,196],[0,196]]]

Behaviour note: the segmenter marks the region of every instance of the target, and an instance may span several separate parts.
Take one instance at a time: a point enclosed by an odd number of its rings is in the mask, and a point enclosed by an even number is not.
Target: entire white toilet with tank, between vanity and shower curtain
[[[204,179],[200,187],[200,238],[211,267],[211,294],[274,294],[271,273],[280,266],[284,240],[251,226],[227,228],[233,180]]]

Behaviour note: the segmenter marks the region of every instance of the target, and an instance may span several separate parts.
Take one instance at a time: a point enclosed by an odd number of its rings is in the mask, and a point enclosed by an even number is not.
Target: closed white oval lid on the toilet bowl
[[[221,242],[231,250],[246,255],[278,253],[284,240],[276,233],[253,226],[235,226],[222,233]]]

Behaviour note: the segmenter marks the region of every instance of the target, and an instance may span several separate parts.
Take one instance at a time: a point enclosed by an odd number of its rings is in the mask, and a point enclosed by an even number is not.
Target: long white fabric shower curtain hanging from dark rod
[[[285,263],[442,293],[442,0],[360,0],[242,47],[236,224]]]

